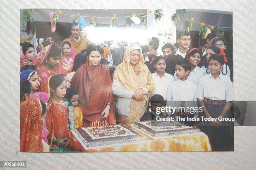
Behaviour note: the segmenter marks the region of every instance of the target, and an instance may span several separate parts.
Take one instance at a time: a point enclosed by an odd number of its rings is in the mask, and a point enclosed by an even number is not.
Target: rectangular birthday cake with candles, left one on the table
[[[76,133],[84,142],[86,147],[108,147],[109,145],[118,145],[123,143],[131,143],[138,140],[143,140],[140,134],[133,129],[118,125],[104,125],[91,127],[78,127]]]

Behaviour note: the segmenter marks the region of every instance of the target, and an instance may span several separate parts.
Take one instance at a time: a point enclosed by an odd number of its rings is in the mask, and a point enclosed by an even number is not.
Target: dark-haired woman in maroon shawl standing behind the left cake
[[[105,121],[115,124],[112,81],[108,69],[100,64],[103,49],[90,44],[87,62],[74,74],[71,87],[79,92],[79,107],[83,112],[84,127],[91,122]]]

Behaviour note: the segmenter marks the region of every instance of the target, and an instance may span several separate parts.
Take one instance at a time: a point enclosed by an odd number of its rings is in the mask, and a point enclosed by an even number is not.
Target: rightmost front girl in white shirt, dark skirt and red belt
[[[199,127],[208,135],[213,151],[234,150],[233,123],[220,121],[219,117],[232,117],[229,112],[233,101],[233,86],[228,76],[221,74],[225,56],[212,54],[209,57],[210,74],[202,76],[197,86],[197,99],[204,118]],[[217,118],[216,121],[214,118]]]

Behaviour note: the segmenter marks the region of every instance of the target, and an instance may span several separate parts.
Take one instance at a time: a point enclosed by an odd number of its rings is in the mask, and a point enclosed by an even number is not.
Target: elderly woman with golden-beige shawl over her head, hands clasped
[[[112,90],[116,96],[117,121],[130,126],[138,122],[155,85],[144,64],[141,47],[132,44],[125,51],[123,62],[115,69]]]

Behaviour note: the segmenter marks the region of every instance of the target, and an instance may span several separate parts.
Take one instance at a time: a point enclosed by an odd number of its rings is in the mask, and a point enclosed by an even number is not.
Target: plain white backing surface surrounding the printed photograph
[[[20,8],[233,9],[235,100],[256,100],[256,2],[253,0],[1,0],[0,160],[29,169],[255,169],[256,127],[235,127],[235,152],[19,153]],[[255,110],[253,110],[255,112]]]

